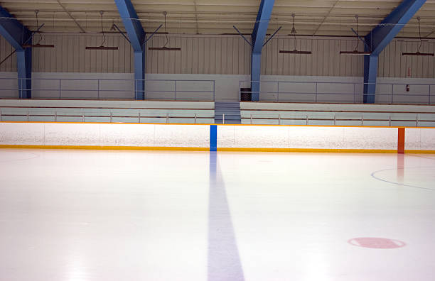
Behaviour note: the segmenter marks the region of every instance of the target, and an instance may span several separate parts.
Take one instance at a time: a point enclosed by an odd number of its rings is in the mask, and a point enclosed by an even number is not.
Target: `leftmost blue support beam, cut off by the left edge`
[[[22,45],[31,44],[32,33],[0,6],[0,35],[16,50],[18,96],[20,99],[30,99],[32,97],[32,49],[24,49]]]

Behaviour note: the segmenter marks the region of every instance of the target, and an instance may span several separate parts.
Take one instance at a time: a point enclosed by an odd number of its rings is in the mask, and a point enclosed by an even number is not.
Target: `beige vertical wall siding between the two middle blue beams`
[[[155,35],[148,47],[163,47],[165,35]],[[168,36],[167,47],[181,51],[146,51],[147,73],[249,75],[251,48],[238,35]]]

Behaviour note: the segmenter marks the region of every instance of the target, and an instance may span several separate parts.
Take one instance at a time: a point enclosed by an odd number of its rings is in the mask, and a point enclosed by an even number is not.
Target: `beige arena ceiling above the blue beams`
[[[252,33],[260,0],[132,0],[139,20],[147,33],[164,21],[167,32],[187,34]],[[359,32],[366,35],[382,21],[400,0],[276,0],[268,33],[282,26],[280,35],[291,33],[292,14],[298,35],[354,35],[355,16]],[[35,11],[44,32],[101,32],[100,11],[104,11],[104,31],[113,23],[124,30],[113,0],[9,0],[0,5],[16,16],[25,26],[36,30]],[[400,37],[418,37],[417,17],[421,18],[422,37],[435,37],[435,0],[427,0]],[[161,29],[159,32],[164,32]]]

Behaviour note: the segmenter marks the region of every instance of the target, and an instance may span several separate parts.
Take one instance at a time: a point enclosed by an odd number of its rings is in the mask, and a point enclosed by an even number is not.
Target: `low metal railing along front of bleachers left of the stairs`
[[[107,123],[143,123],[144,119],[159,119],[163,122],[148,122],[148,123],[171,123],[171,119],[177,121],[183,120],[183,123],[201,123],[199,121],[205,119],[213,119],[214,116],[201,116],[202,114],[192,114],[186,116],[186,114],[141,114],[140,112],[135,116],[134,114],[114,114],[113,111],[107,112],[107,114],[94,113],[81,111],[78,113],[66,114],[65,112],[50,111],[21,111],[21,112],[9,112],[5,113],[0,111],[0,121],[54,121],[54,122],[68,122],[68,121],[81,121],[81,122],[95,122],[102,121]],[[98,120],[96,120],[98,119]],[[181,122],[173,122],[181,123]]]

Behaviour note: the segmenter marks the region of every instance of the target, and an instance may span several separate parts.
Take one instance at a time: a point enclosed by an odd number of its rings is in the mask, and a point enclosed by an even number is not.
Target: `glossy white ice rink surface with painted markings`
[[[0,280],[434,280],[435,155],[0,150]]]

